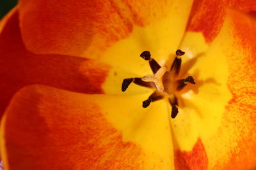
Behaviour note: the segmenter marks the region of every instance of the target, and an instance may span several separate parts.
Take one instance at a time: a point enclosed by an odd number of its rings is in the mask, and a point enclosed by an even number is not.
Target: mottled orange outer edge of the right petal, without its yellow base
[[[228,88],[232,93],[218,134],[228,131],[228,162],[217,164],[216,169],[246,169],[256,165],[256,22],[236,11],[228,11],[230,31],[233,32],[227,51],[230,75]],[[223,145],[228,145],[223,143]],[[224,161],[223,161],[224,162]]]

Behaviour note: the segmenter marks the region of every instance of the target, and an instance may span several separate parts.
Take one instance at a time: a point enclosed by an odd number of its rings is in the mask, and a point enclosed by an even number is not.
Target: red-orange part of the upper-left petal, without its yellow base
[[[20,2],[22,37],[35,53],[100,57],[102,51],[166,15],[168,1],[47,1]],[[143,7],[143,8],[141,8]]]

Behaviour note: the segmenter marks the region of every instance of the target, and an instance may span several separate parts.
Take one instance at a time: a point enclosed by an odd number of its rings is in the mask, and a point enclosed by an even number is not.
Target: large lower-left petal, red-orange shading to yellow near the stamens
[[[25,87],[1,124],[4,167],[174,169],[166,103],[144,109],[141,97]]]

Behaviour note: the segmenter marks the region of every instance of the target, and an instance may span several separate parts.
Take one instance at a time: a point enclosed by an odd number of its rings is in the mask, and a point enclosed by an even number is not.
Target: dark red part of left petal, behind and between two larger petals
[[[110,69],[106,64],[67,55],[35,55],[20,38],[18,13],[12,12],[0,31],[0,115],[13,94],[33,83],[82,93],[103,93]]]

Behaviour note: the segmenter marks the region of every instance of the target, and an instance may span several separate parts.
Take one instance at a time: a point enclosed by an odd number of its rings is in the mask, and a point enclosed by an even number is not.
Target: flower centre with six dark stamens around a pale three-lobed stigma
[[[175,92],[184,89],[188,83],[195,84],[192,76],[178,79],[182,63],[181,56],[184,54],[185,52],[182,52],[182,50],[176,51],[176,57],[173,60],[170,71],[168,71],[167,66],[161,67],[156,60],[151,58],[150,52],[142,52],[140,57],[148,60],[154,74],[146,75],[142,78],[125,78],[122,83],[122,91],[124,92],[132,82],[143,87],[155,88],[156,90],[148,97],[148,99],[143,101],[143,108],[147,108],[150,103],[154,101],[168,97],[168,101],[172,106],[171,117],[175,118],[179,113],[179,103]]]

